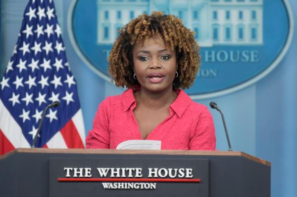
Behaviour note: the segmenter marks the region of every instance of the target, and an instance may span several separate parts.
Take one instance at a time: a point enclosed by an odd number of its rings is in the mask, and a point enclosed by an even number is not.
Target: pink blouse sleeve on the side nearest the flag
[[[87,149],[109,149],[110,98],[100,103],[93,121],[93,129],[86,138]]]

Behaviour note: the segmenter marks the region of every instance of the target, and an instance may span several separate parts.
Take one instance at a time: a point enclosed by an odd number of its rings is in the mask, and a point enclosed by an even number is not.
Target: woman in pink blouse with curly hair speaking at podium
[[[181,89],[199,69],[194,33],[173,15],[152,12],[120,30],[109,73],[128,89],[107,97],[87,136],[87,148],[115,149],[126,140],[161,140],[161,149],[214,150],[212,117]]]

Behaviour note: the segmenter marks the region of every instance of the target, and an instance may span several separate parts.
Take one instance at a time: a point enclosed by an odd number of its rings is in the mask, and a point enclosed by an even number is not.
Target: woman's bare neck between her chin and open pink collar
[[[148,109],[168,108],[176,99],[177,93],[172,89],[162,92],[151,92],[141,89],[134,94],[138,106]]]

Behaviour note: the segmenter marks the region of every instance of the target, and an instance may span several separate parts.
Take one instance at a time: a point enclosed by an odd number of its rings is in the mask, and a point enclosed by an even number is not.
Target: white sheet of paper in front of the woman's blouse
[[[160,140],[127,140],[120,143],[117,150],[161,150]]]

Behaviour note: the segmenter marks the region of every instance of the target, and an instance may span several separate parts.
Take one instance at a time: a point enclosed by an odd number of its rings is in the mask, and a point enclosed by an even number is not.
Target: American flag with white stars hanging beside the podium
[[[36,147],[84,148],[85,129],[52,0],[30,0],[6,71],[0,81],[0,155],[29,148],[43,110]]]

